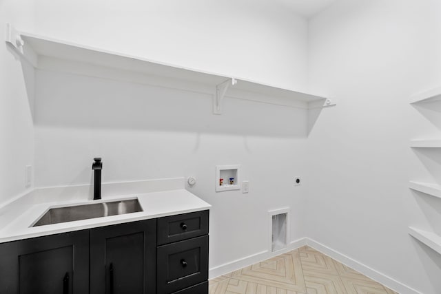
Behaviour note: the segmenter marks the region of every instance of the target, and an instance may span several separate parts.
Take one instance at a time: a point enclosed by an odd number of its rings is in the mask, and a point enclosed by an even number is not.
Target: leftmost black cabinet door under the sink
[[[89,231],[0,244],[0,293],[89,293]]]

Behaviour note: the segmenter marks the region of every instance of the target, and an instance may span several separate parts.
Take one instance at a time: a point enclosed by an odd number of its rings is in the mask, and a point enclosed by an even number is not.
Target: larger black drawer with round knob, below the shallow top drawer
[[[157,266],[161,294],[208,280],[208,235],[158,246]]]

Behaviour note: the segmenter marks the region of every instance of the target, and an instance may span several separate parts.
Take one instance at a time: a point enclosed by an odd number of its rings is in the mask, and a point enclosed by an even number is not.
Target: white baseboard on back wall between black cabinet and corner
[[[274,256],[286,253],[288,251],[298,249],[299,247],[305,246],[306,244],[307,244],[307,239],[301,238],[299,240],[289,243],[289,245],[285,249],[276,252],[270,252],[268,250],[260,251],[253,255],[245,256],[245,258],[240,258],[238,260],[233,260],[232,262],[221,264],[220,266],[215,266],[212,269],[209,269],[208,272],[209,279],[218,277],[220,275],[225,275],[225,273],[231,273],[232,271],[242,269],[245,266],[255,264],[256,262],[261,262],[263,260],[267,260],[268,258],[272,258]]]

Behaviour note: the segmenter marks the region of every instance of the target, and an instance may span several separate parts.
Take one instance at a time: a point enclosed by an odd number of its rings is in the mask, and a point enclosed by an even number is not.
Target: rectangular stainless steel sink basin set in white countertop
[[[58,224],[74,220],[87,220],[102,218],[103,216],[116,216],[119,214],[143,211],[138,199],[100,202],[70,207],[57,207],[49,209],[32,227],[45,224]]]

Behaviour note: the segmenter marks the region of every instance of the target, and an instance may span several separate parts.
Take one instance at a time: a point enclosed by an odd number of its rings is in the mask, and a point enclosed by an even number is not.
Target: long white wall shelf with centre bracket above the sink
[[[74,70],[79,67],[79,64],[87,64],[111,68],[112,70],[143,74],[143,77],[138,78],[137,81],[152,83],[153,85],[163,85],[179,89],[187,87],[184,84],[196,84],[201,92],[213,95],[214,114],[222,112],[223,98],[225,96],[304,109],[335,105],[333,101],[324,96],[275,87],[246,78],[170,65],[145,59],[141,56],[132,56],[111,50],[92,48],[88,45],[19,32],[10,24],[6,24],[6,42],[35,68],[48,69],[48,67],[54,67],[54,60],[57,60],[64,61],[65,63],[62,63],[64,65],[70,64],[69,66]],[[48,59],[52,60],[52,62]],[[57,66],[60,67],[59,62]],[[101,73],[108,74],[103,70],[101,70]],[[123,75],[119,74],[119,76]],[[133,79],[131,77],[130,81]]]

